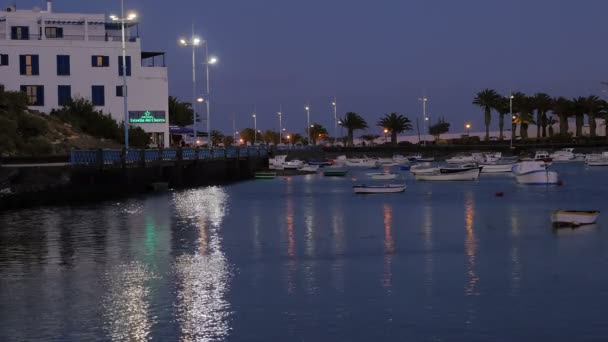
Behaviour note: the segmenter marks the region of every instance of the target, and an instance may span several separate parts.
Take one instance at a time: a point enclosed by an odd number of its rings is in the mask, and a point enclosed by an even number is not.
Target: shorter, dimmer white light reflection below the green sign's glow
[[[123,264],[106,273],[105,328],[113,341],[147,341],[155,323],[150,317],[149,281],[154,278],[139,262]]]

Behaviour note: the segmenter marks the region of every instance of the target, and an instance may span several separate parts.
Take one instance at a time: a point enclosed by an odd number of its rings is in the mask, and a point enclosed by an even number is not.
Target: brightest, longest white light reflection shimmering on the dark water
[[[227,209],[223,188],[208,187],[178,193],[175,204],[182,220],[198,229],[199,249],[176,258],[176,316],[182,341],[224,340],[230,332],[232,272],[219,233]]]

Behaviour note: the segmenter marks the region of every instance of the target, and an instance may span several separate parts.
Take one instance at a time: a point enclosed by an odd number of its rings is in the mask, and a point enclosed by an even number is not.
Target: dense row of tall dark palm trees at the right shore
[[[501,96],[493,89],[484,89],[477,93],[473,104],[481,107],[484,112],[486,136],[490,139],[490,124],[492,123],[492,112],[498,114],[499,139],[503,139],[505,115],[511,114],[511,128],[515,132],[520,125],[520,136],[528,138],[528,126],[536,125],[536,137],[547,137],[553,135],[553,125],[559,123],[559,134],[568,136],[568,118],[575,118],[575,135],[583,135],[585,116],[589,124],[589,135],[597,136],[597,125],[595,119],[602,117],[606,126],[606,137],[608,138],[608,103],[595,95],[568,99],[566,97],[554,97],[545,93],[536,93],[528,96],[522,92],[511,94],[510,98]],[[557,120],[554,117],[557,117]],[[514,134],[514,133],[513,133]]]

